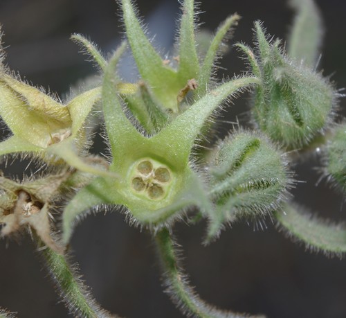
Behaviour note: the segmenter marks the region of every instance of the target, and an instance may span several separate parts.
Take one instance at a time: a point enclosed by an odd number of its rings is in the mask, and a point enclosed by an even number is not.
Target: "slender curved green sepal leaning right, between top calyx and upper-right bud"
[[[212,77],[212,69],[214,67],[215,61],[219,57],[219,51],[223,41],[231,33],[233,26],[237,26],[240,16],[235,14],[228,17],[224,22],[222,22],[217,29],[215,37],[212,39],[206,57],[203,60],[201,66],[201,71],[198,77],[198,88],[194,92],[194,96],[203,96],[208,91],[208,85]],[[256,74],[255,74],[256,75]]]

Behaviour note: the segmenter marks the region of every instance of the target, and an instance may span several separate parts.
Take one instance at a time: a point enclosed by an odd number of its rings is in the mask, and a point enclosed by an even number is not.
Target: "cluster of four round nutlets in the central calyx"
[[[137,195],[152,200],[165,197],[172,184],[172,172],[165,164],[151,158],[143,158],[134,163],[130,175],[131,189]]]

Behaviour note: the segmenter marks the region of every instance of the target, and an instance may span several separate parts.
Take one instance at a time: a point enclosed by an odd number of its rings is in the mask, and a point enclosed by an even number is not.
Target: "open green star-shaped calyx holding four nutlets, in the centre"
[[[114,70],[125,47],[122,44],[109,60],[102,86],[104,121],[112,155],[109,173],[116,177],[94,179],[69,202],[63,215],[65,243],[78,215],[100,204],[125,206],[131,221],[156,229],[171,224],[190,206],[198,206],[206,215],[211,202],[206,184],[190,164],[192,148],[219,105],[240,89],[258,82],[255,77],[224,82],[192,105],[186,104],[185,111],[172,115],[165,125],[157,121],[161,129],[145,136],[126,116],[128,98],[122,98],[117,90],[120,79]],[[152,107],[152,103],[154,99],[141,103],[140,107]],[[160,107],[158,103],[148,113]],[[158,113],[163,114],[163,109]]]

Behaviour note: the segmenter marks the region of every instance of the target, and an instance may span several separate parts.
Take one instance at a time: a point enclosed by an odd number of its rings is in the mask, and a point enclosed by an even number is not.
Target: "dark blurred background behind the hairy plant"
[[[137,2],[151,34],[156,35],[156,44],[167,53],[179,17],[178,1]],[[320,68],[338,88],[346,87],[346,2],[317,2],[326,27]],[[238,12],[243,19],[231,43],[248,44],[252,43],[255,19],[264,21],[271,35],[285,38],[293,14],[284,0],[205,0],[200,9],[201,27],[206,30],[215,30],[219,21]],[[113,0],[0,0],[0,24],[10,69],[60,96],[95,72],[69,40],[72,33],[88,35],[104,53],[112,51],[124,35]],[[131,66],[131,62],[127,64]],[[234,49],[221,67],[221,76],[245,69]],[[136,79],[128,70],[133,67],[122,68],[122,75]],[[247,103],[246,96],[237,100],[226,118],[242,122]],[[340,104],[345,109],[345,101]],[[229,127],[219,125],[219,135]],[[3,130],[3,134],[7,132]],[[5,170],[6,175],[20,174],[15,164]],[[325,182],[314,185],[319,177],[314,170],[317,164],[311,158],[295,166],[298,179],[308,182],[298,184],[293,194],[318,215],[340,222],[346,212],[343,197],[330,191]],[[217,242],[202,247],[204,222],[194,227],[176,224],[183,264],[203,299],[220,308],[264,313],[271,318],[346,317],[345,259],[306,252],[276,231],[270,220],[264,231],[255,227],[253,223],[235,224]],[[129,227],[118,211],[89,215],[76,229],[72,247],[87,285],[107,310],[129,318],[182,317],[162,292],[152,238]],[[19,243],[0,241],[0,307],[24,318],[70,317],[29,236]]]

